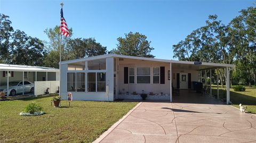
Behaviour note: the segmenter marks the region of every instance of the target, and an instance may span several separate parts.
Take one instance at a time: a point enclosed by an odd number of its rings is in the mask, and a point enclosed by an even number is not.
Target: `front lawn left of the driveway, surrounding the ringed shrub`
[[[92,142],[138,103],[62,101],[51,106],[52,97],[33,97],[0,102],[0,142]],[[46,114],[20,116],[30,102]],[[68,105],[68,104],[67,104]],[[66,107],[65,107],[66,106]]]

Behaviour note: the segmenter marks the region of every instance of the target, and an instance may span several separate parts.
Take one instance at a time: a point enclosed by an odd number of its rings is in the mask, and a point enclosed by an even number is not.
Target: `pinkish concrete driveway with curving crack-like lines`
[[[141,102],[95,142],[256,142],[256,116],[201,98],[207,104]]]

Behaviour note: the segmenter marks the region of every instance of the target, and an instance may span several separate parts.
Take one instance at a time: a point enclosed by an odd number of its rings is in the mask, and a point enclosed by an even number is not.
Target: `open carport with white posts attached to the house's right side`
[[[219,63],[206,63],[206,62],[189,62],[189,61],[173,61],[171,60],[170,63],[171,71],[172,73],[170,75],[172,79],[172,83],[175,87],[180,88],[178,82],[181,82],[179,80],[175,80],[175,75],[173,73],[179,73],[182,74],[187,70],[194,70],[197,71],[197,81],[202,82],[203,86],[207,86],[207,78],[210,78],[210,96],[212,96],[212,72],[217,71],[217,97],[219,98],[219,69],[225,69],[226,74],[226,94],[227,94],[227,104],[230,103],[230,71],[234,68],[233,64],[219,64]],[[177,70],[182,69],[182,70]],[[207,73],[210,72],[210,77],[207,77]],[[193,77],[189,77],[193,78]],[[176,75],[176,79],[177,75]],[[188,83],[192,84],[192,83]],[[188,85],[189,86],[189,85]],[[190,85],[192,88],[192,85]],[[172,102],[172,88],[171,88],[171,102]]]

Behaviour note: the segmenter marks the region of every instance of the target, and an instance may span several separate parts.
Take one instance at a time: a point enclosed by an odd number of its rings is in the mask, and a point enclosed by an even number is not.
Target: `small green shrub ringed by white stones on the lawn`
[[[39,106],[36,102],[29,103],[20,113],[21,116],[38,116],[43,115],[44,112],[42,111],[42,107]]]

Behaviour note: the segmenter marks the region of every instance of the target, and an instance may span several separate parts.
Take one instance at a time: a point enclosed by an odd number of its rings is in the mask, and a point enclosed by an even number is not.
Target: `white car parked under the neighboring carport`
[[[5,92],[7,95],[7,86],[1,86],[0,91]],[[11,81],[9,82],[9,95],[14,96],[23,92],[22,81]],[[24,92],[34,93],[34,83],[24,81]]]

